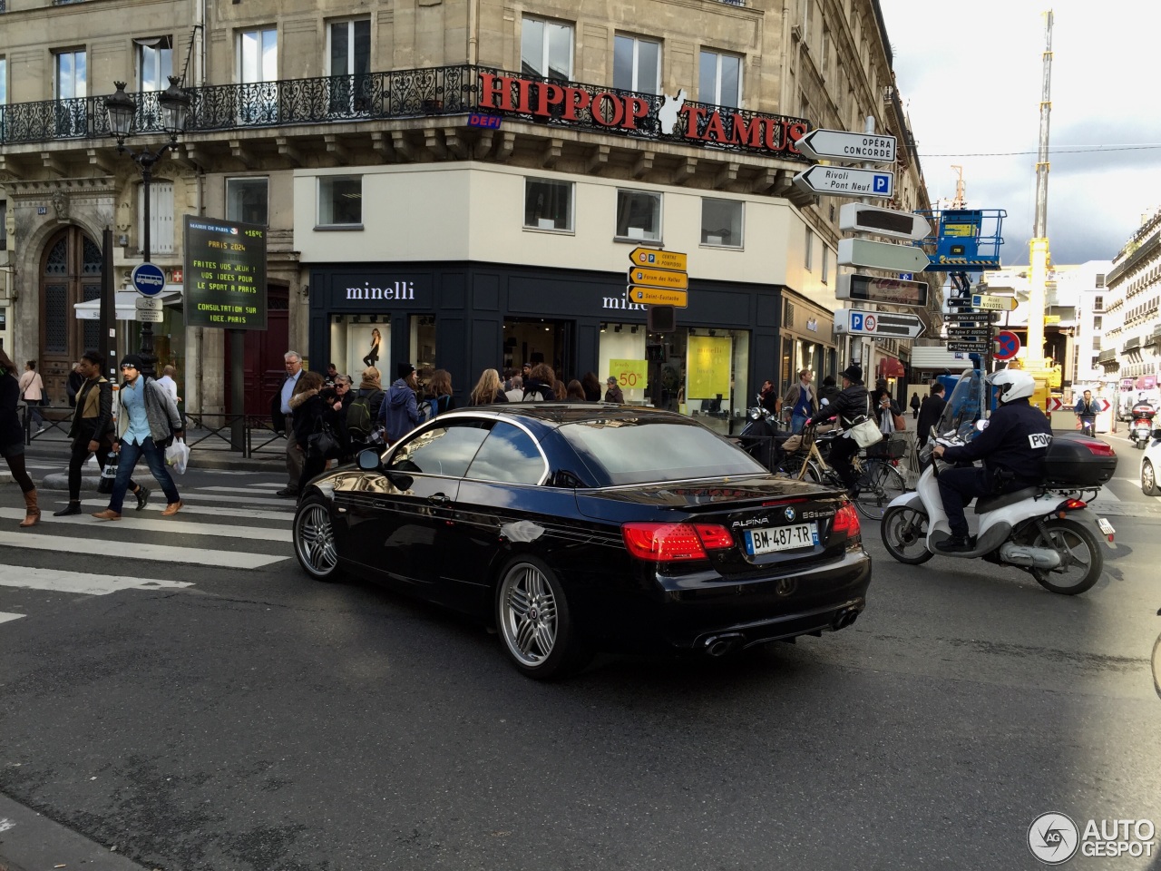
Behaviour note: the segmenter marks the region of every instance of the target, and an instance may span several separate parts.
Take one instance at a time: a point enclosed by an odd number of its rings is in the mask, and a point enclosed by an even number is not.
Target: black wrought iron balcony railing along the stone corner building
[[[359,75],[209,85],[187,89],[192,102],[185,136],[196,139],[199,134],[225,130],[463,115],[481,110],[481,73],[512,80],[510,88],[512,105],[515,107],[532,105],[535,101],[536,88],[541,84],[546,87],[549,86],[547,81],[522,73],[509,73],[492,67],[468,64],[421,70],[392,70]],[[525,87],[527,87],[528,81],[533,82],[531,86],[533,96],[521,95],[521,86],[517,84],[518,80],[524,80]],[[569,84],[551,82],[551,86],[556,85]],[[504,114],[506,117],[519,117],[522,121],[548,127],[579,127],[603,134],[639,138],[657,138],[661,135],[658,117],[661,117],[659,109],[665,98],[657,94],[587,85],[575,85],[575,87],[589,89],[596,94],[613,95],[614,100],[593,100],[593,105],[600,106],[598,111],[605,113],[606,116],[594,121],[592,106],[572,106],[565,111],[563,105],[551,105],[547,115],[533,111],[522,113],[519,109],[507,113],[491,109],[484,109],[484,111]],[[159,92],[134,95],[137,101],[137,118],[134,125],[136,134],[165,132],[158,96]],[[104,111],[104,95],[100,95],[0,106],[0,145],[106,138],[109,136],[109,120]],[[496,99],[495,94],[492,94],[492,99]],[[634,125],[612,124],[607,111],[610,107],[615,109],[618,100],[640,101],[639,105],[648,107],[648,113],[644,117],[639,117]],[[687,109],[701,111],[692,113],[692,117],[697,118],[697,136],[682,139],[683,144],[736,151],[760,151],[769,154],[771,151],[769,144],[760,145],[755,134],[755,131],[762,131],[764,136],[769,134],[762,124],[795,123],[802,124],[803,131],[806,130],[806,122],[801,118],[783,118],[688,100],[684,102],[684,106]],[[721,117],[717,116],[717,113]],[[745,135],[733,141],[734,125],[738,123],[735,122],[735,116],[748,129],[741,131]],[[708,139],[698,138],[706,134],[711,123],[715,125],[715,131],[721,130],[724,136],[714,132]],[[794,153],[780,156],[805,160]]]

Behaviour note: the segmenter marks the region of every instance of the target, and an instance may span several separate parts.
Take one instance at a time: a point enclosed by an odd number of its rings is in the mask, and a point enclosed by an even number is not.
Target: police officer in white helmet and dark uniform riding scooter
[[[1000,389],[1000,408],[988,419],[987,427],[966,445],[937,444],[935,456],[947,462],[974,462],[939,473],[939,496],[947,514],[951,535],[936,542],[937,550],[947,554],[967,553],[975,547],[968,537],[964,506],[973,498],[1000,496],[1037,484],[1044,473],[1044,460],[1052,442],[1052,427],[1029,397],[1036,390],[1032,376],[1019,369],[1001,369],[988,376]]]

